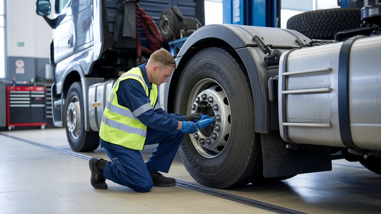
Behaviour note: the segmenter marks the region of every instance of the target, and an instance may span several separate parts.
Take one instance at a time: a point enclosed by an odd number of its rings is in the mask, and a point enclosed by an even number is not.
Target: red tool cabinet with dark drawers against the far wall
[[[46,126],[46,92],[44,86],[6,87],[6,125]]]

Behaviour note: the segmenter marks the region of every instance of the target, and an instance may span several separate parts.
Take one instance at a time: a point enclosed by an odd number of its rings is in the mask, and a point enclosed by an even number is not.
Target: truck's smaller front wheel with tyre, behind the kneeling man
[[[67,92],[64,119],[66,123],[66,135],[73,151],[93,151],[99,146],[98,132],[85,131],[85,119],[83,116],[82,86],[80,82],[74,82]]]

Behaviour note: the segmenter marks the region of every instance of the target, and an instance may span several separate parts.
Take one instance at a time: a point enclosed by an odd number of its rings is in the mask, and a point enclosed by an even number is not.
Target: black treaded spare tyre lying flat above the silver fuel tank
[[[287,29],[298,31],[310,39],[335,39],[340,31],[360,27],[361,8],[315,10],[292,16]]]

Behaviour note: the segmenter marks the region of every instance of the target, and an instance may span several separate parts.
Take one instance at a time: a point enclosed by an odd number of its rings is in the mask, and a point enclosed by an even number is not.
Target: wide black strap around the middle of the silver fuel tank
[[[365,36],[355,36],[344,41],[341,45],[339,53],[339,69],[338,69],[338,113],[339,113],[339,130],[341,141],[348,148],[357,148],[352,141],[351,124],[349,119],[349,58],[351,55],[351,47],[355,40]]]

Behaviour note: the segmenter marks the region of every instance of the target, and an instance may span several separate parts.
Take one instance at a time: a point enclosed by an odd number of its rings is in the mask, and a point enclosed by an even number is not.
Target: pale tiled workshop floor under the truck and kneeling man
[[[88,161],[7,137],[70,150],[65,129],[0,132],[0,213],[271,213],[184,187],[154,187],[136,193],[107,180],[107,190],[90,184]],[[155,146],[146,146],[148,159]],[[101,148],[88,156],[107,155]],[[282,182],[223,190],[295,213],[381,213],[381,175],[361,164],[334,160],[332,171],[297,175]],[[168,176],[199,185],[176,156]]]

